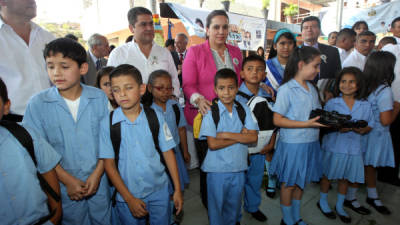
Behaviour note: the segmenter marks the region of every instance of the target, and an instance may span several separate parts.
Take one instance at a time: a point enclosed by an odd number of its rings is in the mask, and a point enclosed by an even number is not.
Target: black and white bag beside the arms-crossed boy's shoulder
[[[272,98],[268,97],[254,95],[250,96],[241,91],[238,92],[238,95],[247,99],[247,106],[257,119],[259,128],[258,141],[256,144],[249,146],[249,154],[256,154],[259,153],[264,146],[269,143],[269,140],[271,139],[275,130],[275,126],[272,121],[273,111],[271,110],[273,100]]]

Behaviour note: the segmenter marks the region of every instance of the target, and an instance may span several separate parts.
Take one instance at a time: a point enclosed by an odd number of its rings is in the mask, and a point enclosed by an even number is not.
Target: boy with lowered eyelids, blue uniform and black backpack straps
[[[135,67],[122,64],[110,74],[111,90],[120,106],[112,116],[112,124],[120,123],[121,142],[118,169],[110,139],[110,119],[101,124],[100,158],[104,159],[105,170],[115,188],[116,207],[122,224],[168,225],[170,206],[169,180],[155,149],[148,118],[140,104],[140,96],[146,87]],[[173,148],[175,142],[163,115],[157,111],[160,125],[159,147],[170,172],[175,192],[173,200],[177,214],[182,209],[182,192]]]

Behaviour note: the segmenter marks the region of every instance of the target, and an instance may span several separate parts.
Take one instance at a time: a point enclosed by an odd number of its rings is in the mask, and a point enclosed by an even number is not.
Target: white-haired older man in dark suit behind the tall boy
[[[110,54],[110,46],[107,38],[100,34],[90,36],[88,45],[87,61],[89,70],[85,76],[82,76],[82,81],[87,85],[95,86],[97,71],[107,65],[107,59],[104,57]]]

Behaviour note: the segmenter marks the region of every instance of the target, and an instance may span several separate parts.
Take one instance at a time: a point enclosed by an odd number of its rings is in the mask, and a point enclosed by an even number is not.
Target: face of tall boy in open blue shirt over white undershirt
[[[79,67],[77,62],[64,57],[61,53],[46,57],[46,66],[51,82],[60,92],[79,86],[81,76],[88,71],[87,63],[83,63]]]

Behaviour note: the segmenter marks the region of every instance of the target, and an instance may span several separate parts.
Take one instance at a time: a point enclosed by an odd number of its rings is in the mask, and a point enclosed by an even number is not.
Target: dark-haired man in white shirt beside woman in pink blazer
[[[147,83],[149,75],[155,70],[166,70],[172,76],[174,95],[179,96],[178,73],[171,53],[154,43],[154,24],[151,11],[144,7],[134,7],[128,12],[129,29],[134,34],[131,42],[114,49],[108,58],[108,66],[130,64],[142,74]]]

